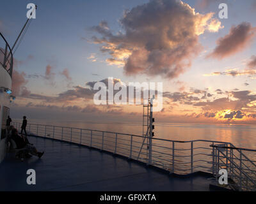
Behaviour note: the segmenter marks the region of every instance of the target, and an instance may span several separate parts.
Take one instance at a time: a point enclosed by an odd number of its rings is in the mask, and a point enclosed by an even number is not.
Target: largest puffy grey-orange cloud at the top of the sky
[[[176,78],[199,54],[198,36],[221,28],[213,15],[196,13],[182,1],[151,0],[125,11],[120,19],[124,33],[113,34],[106,21],[94,26],[102,38],[93,36],[93,42],[111,55],[106,62],[124,66],[126,75]]]

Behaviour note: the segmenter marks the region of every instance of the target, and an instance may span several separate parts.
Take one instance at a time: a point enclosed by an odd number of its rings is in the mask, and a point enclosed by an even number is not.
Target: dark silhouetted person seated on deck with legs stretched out
[[[19,135],[17,129],[15,129],[15,128],[12,129],[11,138],[16,143],[17,149],[26,148],[26,150],[28,150],[29,154],[38,156],[39,158],[43,156],[44,152],[38,152],[36,150],[36,148],[28,142],[28,138],[24,138],[23,136]]]

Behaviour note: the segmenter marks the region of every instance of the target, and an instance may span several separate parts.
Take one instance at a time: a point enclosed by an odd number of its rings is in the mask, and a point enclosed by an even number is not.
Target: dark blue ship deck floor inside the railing
[[[29,137],[41,159],[21,162],[8,154],[0,164],[0,191],[209,191],[209,176],[178,178],[127,159],[71,143]],[[26,171],[36,171],[28,185]]]

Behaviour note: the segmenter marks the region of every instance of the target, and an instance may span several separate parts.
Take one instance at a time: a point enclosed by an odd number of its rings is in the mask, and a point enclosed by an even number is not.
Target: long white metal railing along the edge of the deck
[[[20,129],[19,122],[13,126]],[[67,128],[41,124],[28,124],[31,135],[53,138],[106,150],[113,154],[135,159],[152,166],[157,166],[170,173],[186,175],[196,171],[212,173],[218,184],[221,168],[228,171],[228,177],[235,190],[256,191],[256,150],[237,149],[232,143],[211,140],[176,141],[152,138],[151,148],[143,145],[144,136],[93,129]],[[151,159],[148,151],[151,150]]]

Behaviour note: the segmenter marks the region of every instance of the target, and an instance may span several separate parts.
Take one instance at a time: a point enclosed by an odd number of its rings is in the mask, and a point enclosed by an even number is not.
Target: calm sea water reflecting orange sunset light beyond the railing
[[[16,120],[20,122],[19,120]],[[33,124],[49,124],[54,126],[67,126],[72,128],[97,129],[118,133],[142,134],[141,124],[111,123],[111,122],[84,122],[84,121],[49,121],[29,120]],[[256,149],[255,125],[230,124],[168,124],[155,123],[156,138],[168,140],[215,140],[230,142],[236,147]]]

